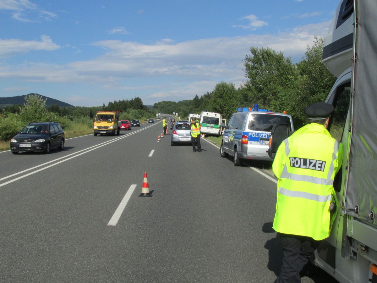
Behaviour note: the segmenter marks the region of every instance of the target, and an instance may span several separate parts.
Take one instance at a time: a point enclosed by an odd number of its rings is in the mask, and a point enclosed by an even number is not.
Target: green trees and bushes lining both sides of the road
[[[198,94],[192,100],[162,101],[152,109],[143,105],[139,97],[131,100],[109,102],[93,107],[46,107],[46,100],[38,94],[29,94],[23,105],[6,105],[0,108],[0,151],[9,149],[9,140],[30,122],[58,122],[66,138],[91,134],[93,118],[98,111],[120,111],[120,120],[139,119],[142,123],[156,113],[176,114],[181,120],[190,113],[201,111],[221,113],[227,121],[239,107],[287,111],[292,115],[295,129],[305,125],[305,106],[324,101],[336,78],[322,64],[323,38],[314,36],[313,46],[308,46],[305,56],[293,64],[283,52],[270,48],[250,47],[245,55],[243,85],[236,88],[232,82],[219,82],[211,92]],[[241,61],[241,58],[240,58]],[[220,146],[221,137],[207,137]]]

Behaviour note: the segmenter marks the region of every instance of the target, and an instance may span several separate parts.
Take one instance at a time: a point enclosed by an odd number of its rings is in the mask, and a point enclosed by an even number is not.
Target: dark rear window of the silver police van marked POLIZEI
[[[278,124],[291,125],[288,116],[259,114],[252,115],[248,123],[248,129],[252,131],[271,132],[273,126]]]

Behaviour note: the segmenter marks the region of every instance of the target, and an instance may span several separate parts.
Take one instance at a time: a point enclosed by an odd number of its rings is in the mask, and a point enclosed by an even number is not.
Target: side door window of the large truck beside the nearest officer
[[[331,134],[331,137],[339,141],[342,141],[342,135],[349,108],[350,94],[351,82],[346,82],[338,86],[333,92],[332,97],[328,100],[329,103],[334,105],[335,111],[327,128]]]

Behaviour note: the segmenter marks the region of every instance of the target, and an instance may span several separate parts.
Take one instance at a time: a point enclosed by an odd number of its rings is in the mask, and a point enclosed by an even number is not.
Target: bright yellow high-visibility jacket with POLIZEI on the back
[[[333,202],[338,208],[333,183],[342,158],[342,144],[316,123],[303,126],[281,143],[272,165],[279,178],[275,231],[314,240],[329,236],[334,221],[329,206]]]

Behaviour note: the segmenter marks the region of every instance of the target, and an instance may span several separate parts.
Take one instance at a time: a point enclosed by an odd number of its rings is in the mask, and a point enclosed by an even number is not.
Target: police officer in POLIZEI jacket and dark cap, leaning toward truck
[[[330,234],[337,211],[334,177],[342,165],[343,146],[327,130],[333,105],[305,108],[308,125],[284,140],[272,169],[277,178],[273,228],[283,246],[277,283],[301,282],[299,272]]]

